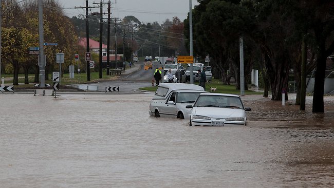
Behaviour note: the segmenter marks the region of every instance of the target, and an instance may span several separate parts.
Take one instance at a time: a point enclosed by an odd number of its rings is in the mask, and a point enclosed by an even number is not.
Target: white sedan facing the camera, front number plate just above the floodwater
[[[192,109],[190,126],[246,125],[246,111],[251,110],[239,96],[224,93],[201,93],[194,105],[186,108]]]

